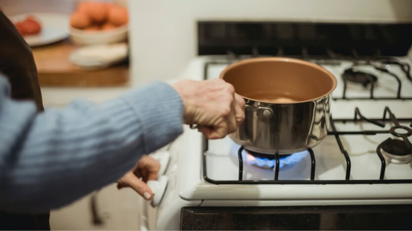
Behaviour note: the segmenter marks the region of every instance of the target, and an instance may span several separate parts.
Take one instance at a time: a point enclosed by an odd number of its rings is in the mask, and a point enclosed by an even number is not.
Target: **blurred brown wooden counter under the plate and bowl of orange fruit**
[[[100,70],[82,70],[69,57],[76,46],[69,40],[33,48],[41,86],[99,87],[122,86],[129,80],[127,63]]]

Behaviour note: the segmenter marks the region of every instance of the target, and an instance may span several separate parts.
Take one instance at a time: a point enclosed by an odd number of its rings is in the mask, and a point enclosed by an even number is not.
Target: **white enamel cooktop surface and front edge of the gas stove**
[[[399,61],[412,64],[406,57]],[[198,57],[187,66],[182,78],[218,77],[227,62],[226,56]],[[401,97],[405,98],[391,99],[397,97],[397,80],[374,68],[359,66],[360,70],[378,77],[373,96],[384,99],[347,100],[342,99],[341,74],[351,63],[339,61],[338,65],[323,66],[338,80],[332,93],[335,100],[331,103],[334,129],[330,128],[330,134],[311,150],[312,157],[309,151],[279,157],[278,180],[274,182],[276,160],[267,157],[256,160],[244,150],[242,181],[239,181],[240,146],[229,137],[206,140],[201,133],[185,127],[183,135],[169,150],[171,159],[165,173],[169,181],[158,209],[156,229],[179,229],[183,207],[412,204],[412,162],[396,164],[382,154],[385,160],[382,175],[378,145],[388,138],[402,139],[388,132],[394,126],[388,114],[384,127],[359,120],[360,117],[353,121],[358,108],[362,116],[382,122],[388,107],[400,126],[411,129],[412,81],[399,66],[385,65],[400,79]],[[369,93],[370,85],[363,88],[347,84],[347,98],[368,98]],[[412,136],[408,139],[411,142]],[[340,148],[348,155],[350,171]]]

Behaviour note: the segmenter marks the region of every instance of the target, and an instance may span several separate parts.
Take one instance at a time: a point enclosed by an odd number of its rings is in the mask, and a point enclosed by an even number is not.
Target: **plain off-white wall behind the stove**
[[[196,56],[197,20],[412,22],[411,0],[129,0],[136,83],[174,78]]]

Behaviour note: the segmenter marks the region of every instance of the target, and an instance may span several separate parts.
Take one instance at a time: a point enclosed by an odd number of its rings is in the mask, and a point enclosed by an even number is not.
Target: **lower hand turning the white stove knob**
[[[157,160],[143,156],[134,169],[118,180],[117,188],[130,187],[146,200],[153,197],[153,192],[146,184],[148,180],[157,180],[160,164]]]

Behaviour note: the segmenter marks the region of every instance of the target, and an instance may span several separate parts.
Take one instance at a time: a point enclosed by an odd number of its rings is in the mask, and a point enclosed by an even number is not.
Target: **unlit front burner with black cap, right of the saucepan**
[[[403,140],[391,139],[382,145],[385,159],[394,164],[408,164],[412,160],[412,152]]]

